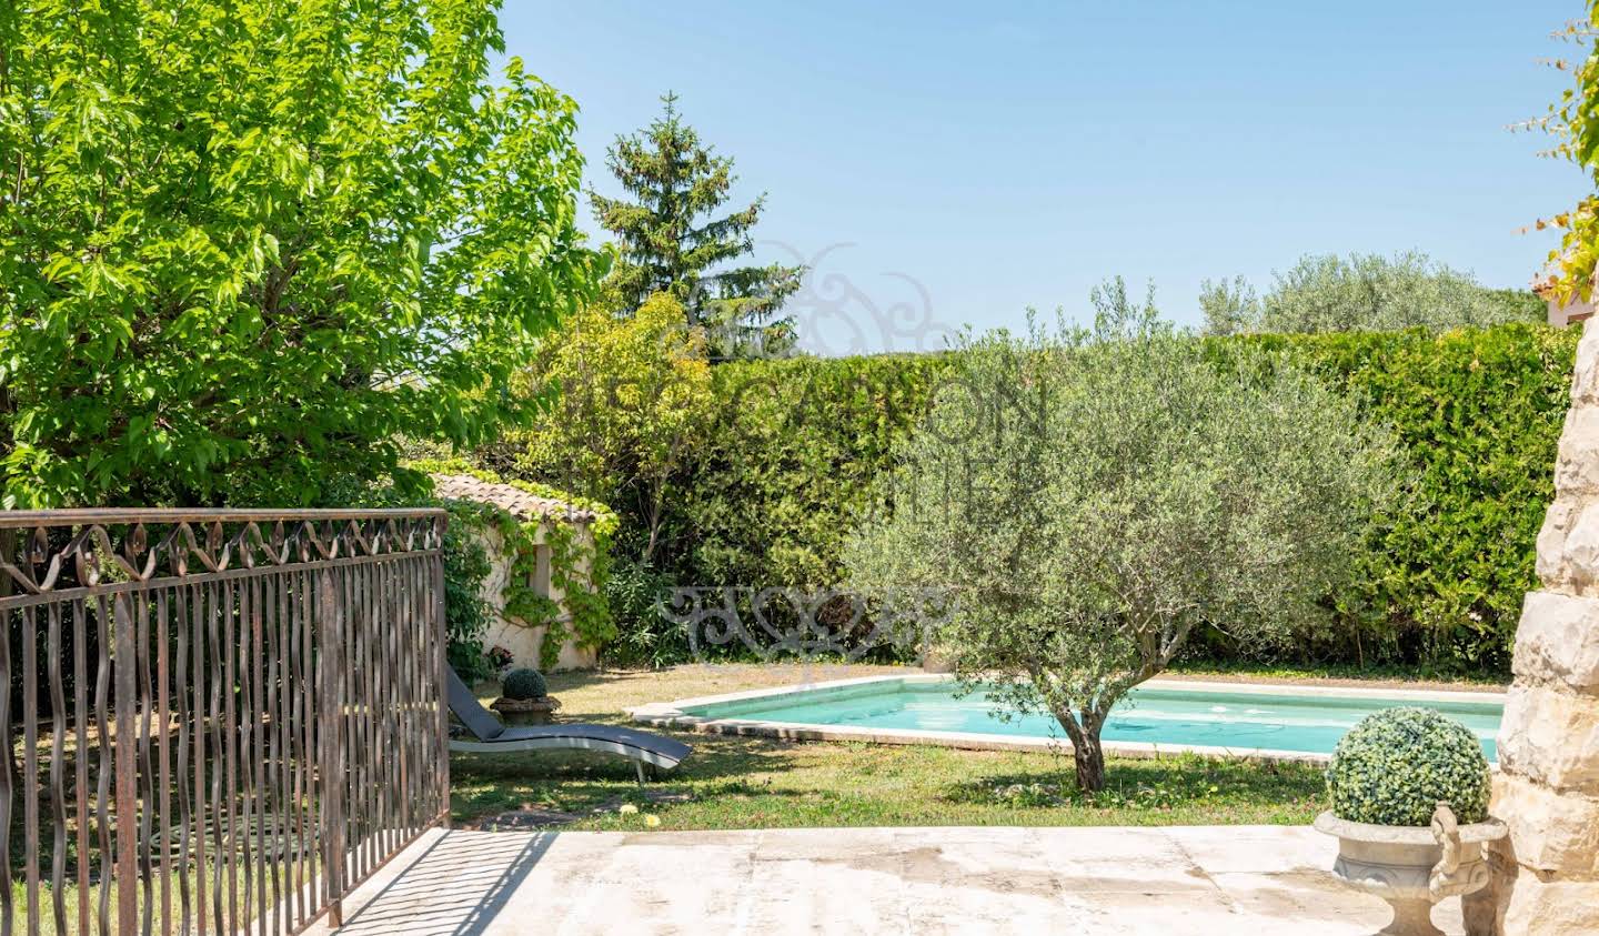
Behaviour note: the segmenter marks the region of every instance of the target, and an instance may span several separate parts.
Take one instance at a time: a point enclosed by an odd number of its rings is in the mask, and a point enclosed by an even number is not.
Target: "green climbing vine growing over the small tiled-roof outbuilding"
[[[489,483],[504,483],[539,498],[561,501],[577,510],[592,512],[595,518],[587,523],[587,536],[584,525],[560,517],[552,517],[547,522],[523,522],[508,510],[478,502],[454,510],[453,522],[494,530],[500,536],[505,554],[512,560],[502,613],[529,626],[548,629],[539,648],[539,666],[555,666],[561,645],[568,640],[580,646],[598,648],[616,637],[616,624],[604,597],[606,579],[611,574],[611,541],[617,528],[617,517],[609,507],[537,482],[500,478],[461,459],[416,461],[411,462],[411,467],[429,474],[470,475]],[[539,541],[540,526],[544,526],[542,542]],[[552,592],[561,592],[561,602],[540,595],[532,584],[539,563],[539,546],[550,550],[550,587]],[[480,574],[486,576],[488,570]],[[481,578],[473,582],[473,594],[478,586],[481,586]]]

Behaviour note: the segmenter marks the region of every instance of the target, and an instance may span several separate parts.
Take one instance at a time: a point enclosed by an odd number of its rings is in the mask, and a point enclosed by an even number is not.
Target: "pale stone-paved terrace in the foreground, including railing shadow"
[[[339,933],[1372,933],[1386,906],[1330,877],[1335,851],[1282,826],[435,830]],[[1434,922],[1461,933],[1460,901]]]

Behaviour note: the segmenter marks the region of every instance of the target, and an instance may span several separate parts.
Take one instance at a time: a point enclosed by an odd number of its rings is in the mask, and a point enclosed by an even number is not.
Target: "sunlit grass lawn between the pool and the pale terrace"
[[[550,677],[561,718],[627,723],[624,707],[894,667],[683,666]],[[480,688],[484,702],[496,686]],[[587,752],[451,757],[461,826],[518,821],[568,829],[782,829],[803,826],[1300,824],[1322,808],[1319,768],[1111,758],[1108,789],[1079,794],[1071,758],[950,747],[792,742],[681,734],[694,754],[640,787],[633,766]]]

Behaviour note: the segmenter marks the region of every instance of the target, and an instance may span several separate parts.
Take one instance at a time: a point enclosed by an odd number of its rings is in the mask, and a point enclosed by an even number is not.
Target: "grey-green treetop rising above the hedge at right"
[[[1209,334],[1445,330],[1545,317],[1530,291],[1485,290],[1414,251],[1305,256],[1258,299],[1242,277],[1207,280],[1199,307]]]

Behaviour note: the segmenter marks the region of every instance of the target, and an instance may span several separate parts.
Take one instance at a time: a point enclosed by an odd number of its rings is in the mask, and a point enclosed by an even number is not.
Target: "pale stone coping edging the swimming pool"
[[[788,686],[768,686],[745,690],[739,693],[723,693],[716,696],[696,696],[691,699],[675,699],[670,702],[649,702],[627,709],[633,722],[656,728],[680,728],[707,734],[742,734],[753,738],[779,738],[785,741],[859,741],[868,744],[937,744],[942,747],[958,747],[966,750],[1055,750],[1070,752],[1071,742],[1067,738],[1039,736],[1001,736],[975,731],[932,731],[926,728],[867,728],[857,725],[812,725],[804,722],[769,722],[764,718],[710,718],[691,715],[684,709],[697,706],[715,706],[720,702],[744,702],[752,699],[768,699],[787,696],[800,691],[817,690],[849,690],[883,682],[900,683],[937,683],[951,682],[953,677],[943,674],[908,674],[908,675],[870,675],[844,680],[825,680],[815,683],[798,683]],[[1230,696],[1324,696],[1340,699],[1407,699],[1417,702],[1493,702],[1505,704],[1505,693],[1490,691],[1457,691],[1457,690],[1390,690],[1362,686],[1314,686],[1305,683],[1228,683],[1212,680],[1180,680],[1153,678],[1143,683],[1156,690],[1177,690],[1193,693],[1212,693]],[[1148,741],[1107,741],[1105,752],[1118,757],[1159,758],[1172,754],[1201,754],[1207,757],[1242,757],[1276,763],[1327,763],[1330,754],[1306,750],[1278,750],[1270,747],[1218,747],[1207,744],[1158,744]],[[1493,763],[1497,770],[1498,765]]]

